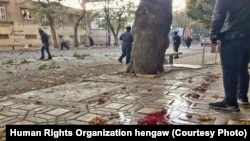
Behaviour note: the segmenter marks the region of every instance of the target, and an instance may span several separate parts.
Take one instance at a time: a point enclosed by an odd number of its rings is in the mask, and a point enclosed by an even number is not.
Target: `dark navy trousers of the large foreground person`
[[[225,90],[224,101],[237,105],[237,98],[248,99],[250,39],[221,40],[220,57]]]

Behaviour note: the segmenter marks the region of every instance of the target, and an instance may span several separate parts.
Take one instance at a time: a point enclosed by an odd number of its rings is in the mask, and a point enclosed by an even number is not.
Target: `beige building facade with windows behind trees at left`
[[[36,15],[32,15],[31,8],[34,2],[26,0],[0,0],[0,47],[1,46],[40,46],[38,28],[42,28],[51,36],[50,26],[42,26]],[[56,27],[56,36],[63,36],[65,40],[74,43],[74,27],[82,11],[67,7],[63,11],[62,24]],[[44,17],[46,20],[46,17]],[[79,44],[86,42],[86,32],[83,22],[78,27]],[[53,42],[51,40],[51,44]]]

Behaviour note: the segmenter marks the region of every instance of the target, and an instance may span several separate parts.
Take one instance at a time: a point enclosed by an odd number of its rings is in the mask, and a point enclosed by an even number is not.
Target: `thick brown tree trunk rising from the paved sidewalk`
[[[132,33],[134,44],[128,73],[157,74],[164,71],[165,51],[172,23],[172,0],[141,0]]]

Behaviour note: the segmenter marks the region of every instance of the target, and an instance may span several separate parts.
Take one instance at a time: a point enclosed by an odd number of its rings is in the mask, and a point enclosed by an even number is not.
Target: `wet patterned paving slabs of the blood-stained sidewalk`
[[[120,50],[111,50],[92,49],[90,54],[108,55],[116,60]],[[218,55],[205,47],[203,60],[203,48],[199,45],[189,49],[181,47],[180,52],[183,54],[174,60],[174,65],[165,65],[165,72],[155,77],[113,72],[2,97],[0,127],[7,124],[249,124],[250,106],[240,106],[240,112],[208,107],[209,102],[224,97]]]

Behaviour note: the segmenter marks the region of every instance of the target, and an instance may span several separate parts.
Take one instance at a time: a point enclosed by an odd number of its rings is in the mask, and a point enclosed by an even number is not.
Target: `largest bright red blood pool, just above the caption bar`
[[[170,125],[166,119],[167,111],[152,112],[138,121],[138,125]]]

